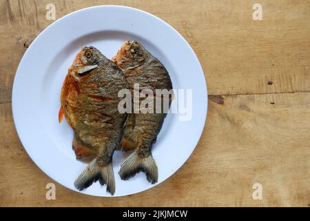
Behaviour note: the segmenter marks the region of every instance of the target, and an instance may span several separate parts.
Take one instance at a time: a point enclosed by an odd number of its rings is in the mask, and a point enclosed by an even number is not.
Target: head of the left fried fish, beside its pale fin
[[[74,58],[70,68],[71,75],[73,75],[75,79],[79,79],[91,73],[92,70],[98,68],[102,57],[103,55],[101,52],[93,46],[83,47]]]

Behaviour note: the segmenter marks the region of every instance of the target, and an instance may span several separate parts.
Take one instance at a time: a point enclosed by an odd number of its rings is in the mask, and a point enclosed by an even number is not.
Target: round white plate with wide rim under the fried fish
[[[192,119],[180,113],[165,119],[153,155],[158,183],[182,166],[194,151],[207,115],[207,86],[200,63],[187,41],[165,21],[142,10],[124,6],[85,8],[55,21],[32,42],[14,79],[12,111],[19,138],[32,160],[56,182],[74,191],[74,180],[86,164],[72,151],[73,131],[58,122],[63,79],[74,56],[83,46],[95,46],[112,58],[126,40],[138,40],[167,68],[174,89],[192,89]],[[118,176],[126,153],[115,152],[114,196],[138,193],[155,185],[138,173],[130,180]],[[108,196],[99,182],[81,193]]]

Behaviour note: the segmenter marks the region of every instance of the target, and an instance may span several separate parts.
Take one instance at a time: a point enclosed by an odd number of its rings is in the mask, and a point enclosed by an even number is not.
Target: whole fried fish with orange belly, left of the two
[[[99,180],[115,192],[112,155],[121,140],[125,114],[118,112],[118,91],[128,88],[122,70],[90,46],[82,48],[61,88],[61,109],[74,130],[72,148],[77,158],[91,162],[74,182],[80,191]]]

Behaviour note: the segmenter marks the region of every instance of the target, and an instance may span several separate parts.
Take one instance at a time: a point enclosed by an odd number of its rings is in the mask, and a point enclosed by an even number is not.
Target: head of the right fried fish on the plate
[[[143,65],[146,60],[145,55],[145,49],[138,41],[125,41],[112,61],[122,70],[129,70]]]

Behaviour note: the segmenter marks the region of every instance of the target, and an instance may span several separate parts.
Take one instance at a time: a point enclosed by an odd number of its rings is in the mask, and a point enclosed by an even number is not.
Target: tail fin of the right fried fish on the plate
[[[121,164],[121,170],[118,174],[121,176],[122,180],[128,180],[140,171],[145,173],[147,180],[152,184],[158,181],[158,169],[152,155],[143,157],[134,151]]]

